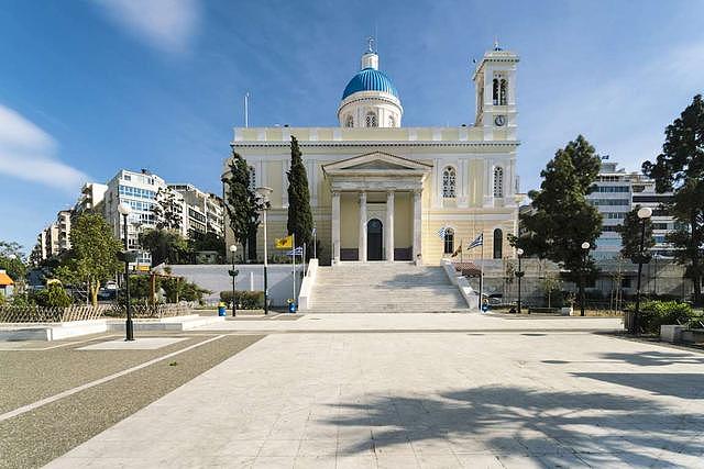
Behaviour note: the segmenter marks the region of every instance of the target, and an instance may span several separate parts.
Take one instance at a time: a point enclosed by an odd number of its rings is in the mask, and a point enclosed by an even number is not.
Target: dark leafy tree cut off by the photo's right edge
[[[667,206],[680,227],[667,236],[676,261],[686,266],[694,284],[694,302],[702,302],[704,277],[704,101],[697,94],[680,118],[666,129],[662,153],[642,171],[656,180],[658,192],[673,191]]]

